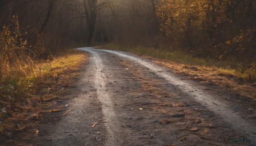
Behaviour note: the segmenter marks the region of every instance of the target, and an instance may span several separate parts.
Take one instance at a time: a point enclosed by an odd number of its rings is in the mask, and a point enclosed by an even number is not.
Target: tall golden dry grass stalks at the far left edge
[[[20,31],[17,17],[12,24],[0,31],[0,109],[5,113],[4,103],[19,100],[29,86],[29,75],[35,69],[26,48],[26,32]]]

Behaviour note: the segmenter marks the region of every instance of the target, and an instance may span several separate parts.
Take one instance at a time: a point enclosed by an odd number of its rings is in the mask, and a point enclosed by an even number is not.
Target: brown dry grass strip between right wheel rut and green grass
[[[156,63],[161,63],[163,66],[172,68],[175,73],[185,73],[191,75],[191,79],[199,80],[200,83],[212,83],[217,86],[230,89],[242,96],[250,97],[256,100],[256,88],[254,83],[248,83],[243,79],[238,79],[232,74],[224,70],[217,70],[215,67],[202,67],[185,65],[182,63],[167,62],[164,60],[154,60]],[[194,77],[194,75],[197,75]]]

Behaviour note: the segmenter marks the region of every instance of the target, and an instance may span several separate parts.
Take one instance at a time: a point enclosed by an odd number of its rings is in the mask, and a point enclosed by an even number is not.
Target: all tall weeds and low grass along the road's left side
[[[17,17],[0,31],[0,143],[23,132],[29,120],[38,120],[46,103],[71,88],[75,72],[87,55],[76,49],[62,49],[38,58],[28,49],[26,32]],[[29,125],[31,126],[31,125]],[[36,133],[36,131],[35,131]]]

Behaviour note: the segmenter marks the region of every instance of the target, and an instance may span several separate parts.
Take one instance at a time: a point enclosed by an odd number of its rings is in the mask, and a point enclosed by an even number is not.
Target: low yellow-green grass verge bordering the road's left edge
[[[65,100],[59,95],[69,94],[68,89],[74,86],[80,74],[79,66],[86,60],[84,52],[67,49],[51,60],[33,62],[26,76],[3,76],[0,83],[0,145],[10,144],[17,133],[27,135],[24,130],[34,120],[42,118],[45,108],[55,105],[56,99]],[[8,96],[13,97],[6,98]]]

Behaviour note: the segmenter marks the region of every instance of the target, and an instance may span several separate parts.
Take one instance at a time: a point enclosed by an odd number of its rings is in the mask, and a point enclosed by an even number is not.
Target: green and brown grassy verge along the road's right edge
[[[174,69],[176,73],[185,73],[194,80],[201,83],[213,83],[223,88],[230,89],[242,96],[256,99],[256,63],[244,65],[230,61],[217,60],[213,58],[198,58],[181,51],[168,52],[160,49],[144,47],[121,47],[116,44],[101,46],[102,49],[126,51],[151,57],[156,63]]]

